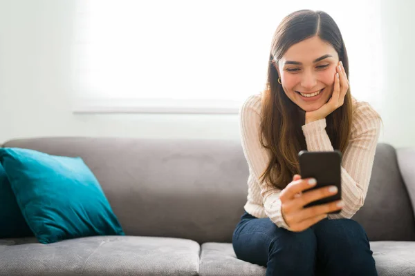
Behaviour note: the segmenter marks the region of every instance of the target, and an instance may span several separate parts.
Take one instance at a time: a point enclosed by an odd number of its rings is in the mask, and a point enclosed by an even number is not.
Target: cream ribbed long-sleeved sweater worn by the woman
[[[371,177],[371,169],[380,133],[380,117],[369,103],[353,99],[353,120],[349,146],[342,157],[342,199],[344,207],[329,219],[351,218],[363,206]],[[241,142],[248,161],[248,201],[244,208],[254,217],[269,217],[277,226],[288,230],[281,215],[281,190],[260,182],[259,176],[268,166],[270,153],[259,142],[261,94],[250,96],[239,110]],[[326,133],[326,119],[302,126],[307,150],[331,151]]]

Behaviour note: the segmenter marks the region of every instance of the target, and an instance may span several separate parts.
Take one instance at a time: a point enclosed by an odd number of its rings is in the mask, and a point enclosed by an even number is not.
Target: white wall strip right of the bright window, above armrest
[[[415,146],[415,1],[382,0],[385,48],[385,123],[382,139],[394,146]]]

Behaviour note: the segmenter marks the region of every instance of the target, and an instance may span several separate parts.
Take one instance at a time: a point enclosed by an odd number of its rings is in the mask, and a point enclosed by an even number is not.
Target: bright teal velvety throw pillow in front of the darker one
[[[0,162],[40,243],[124,235],[98,180],[80,157],[0,148]]]

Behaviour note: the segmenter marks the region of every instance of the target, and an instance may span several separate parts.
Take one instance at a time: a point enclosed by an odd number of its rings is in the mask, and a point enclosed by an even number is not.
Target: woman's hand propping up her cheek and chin
[[[334,75],[334,88],[331,99],[324,104],[321,108],[306,112],[306,124],[312,121],[324,119],[334,110],[340,108],[344,103],[344,97],[349,89],[349,81],[347,81],[346,72],[344,72],[343,64],[341,61],[338,63],[335,70],[337,73]]]

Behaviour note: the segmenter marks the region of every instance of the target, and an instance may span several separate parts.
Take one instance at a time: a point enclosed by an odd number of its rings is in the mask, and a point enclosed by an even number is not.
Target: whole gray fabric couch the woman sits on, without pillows
[[[239,141],[61,137],[3,146],[82,157],[127,236],[2,239],[0,275],[265,275],[232,250],[247,195]],[[365,206],[353,217],[379,275],[415,275],[414,206],[415,150],[379,144]]]

